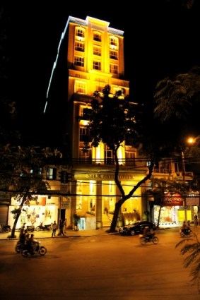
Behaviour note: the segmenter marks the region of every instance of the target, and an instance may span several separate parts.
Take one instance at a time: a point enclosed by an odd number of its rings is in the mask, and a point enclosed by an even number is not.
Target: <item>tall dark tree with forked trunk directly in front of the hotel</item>
[[[110,232],[116,231],[117,218],[122,204],[129,199],[134,192],[151,178],[153,172],[154,157],[150,157],[148,174],[134,186],[126,195],[123,186],[119,181],[119,160],[117,150],[124,140],[129,140],[131,145],[137,147],[141,141],[141,106],[129,100],[126,96],[121,99],[124,90],[118,91],[115,95],[110,93],[110,85],[106,85],[102,90],[103,97],[98,91],[94,92],[92,109],[88,111],[88,128],[92,139],[92,146],[97,147],[100,142],[107,145],[112,150],[115,162],[114,181],[121,193],[121,198],[115,203],[114,215],[110,225]],[[85,150],[88,149],[88,142],[85,143]]]

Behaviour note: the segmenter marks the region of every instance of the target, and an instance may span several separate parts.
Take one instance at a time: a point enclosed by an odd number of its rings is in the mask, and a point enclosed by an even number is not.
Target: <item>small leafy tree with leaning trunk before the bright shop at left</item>
[[[61,157],[61,153],[49,148],[22,148],[9,145],[1,146],[0,152],[0,191],[10,193],[19,202],[19,208],[13,211],[15,217],[11,232],[13,238],[23,205],[30,205],[32,200],[37,203],[37,195],[47,193],[50,188],[43,179],[42,167],[47,164],[49,157]]]

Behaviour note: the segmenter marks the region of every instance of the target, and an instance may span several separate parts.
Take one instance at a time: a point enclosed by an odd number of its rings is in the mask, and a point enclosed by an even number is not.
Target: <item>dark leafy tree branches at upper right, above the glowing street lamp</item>
[[[160,80],[155,87],[154,102],[155,118],[163,123],[176,121],[179,131],[199,135],[200,67]]]

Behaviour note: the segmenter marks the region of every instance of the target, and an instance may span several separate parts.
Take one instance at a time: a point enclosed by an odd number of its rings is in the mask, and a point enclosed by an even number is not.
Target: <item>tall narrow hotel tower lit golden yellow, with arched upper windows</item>
[[[86,111],[93,93],[102,92],[105,85],[110,85],[112,94],[123,90],[123,95],[129,95],[129,81],[124,78],[124,32],[110,28],[104,20],[70,16],[49,81],[45,115],[48,120],[53,120],[55,114],[59,116],[57,124],[49,129],[50,138],[58,143],[66,138],[72,162],[70,205],[66,213],[81,216],[82,229],[110,226],[114,205],[120,197],[114,183],[112,151],[102,143],[97,148],[89,143],[88,152],[82,151],[89,136]],[[50,123],[47,121],[48,126]],[[55,126],[57,136],[53,134]],[[137,150],[125,144],[118,157],[119,180],[128,193],[146,175],[146,162],[139,162]],[[122,206],[122,212],[134,214],[135,220],[142,220],[146,211],[146,201],[142,201],[145,189],[139,188]]]

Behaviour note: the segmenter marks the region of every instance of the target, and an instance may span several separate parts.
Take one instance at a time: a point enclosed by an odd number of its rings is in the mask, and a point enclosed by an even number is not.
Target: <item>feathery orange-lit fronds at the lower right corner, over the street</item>
[[[185,244],[189,242],[189,244]],[[184,268],[191,267],[190,276],[192,277],[192,285],[196,284],[200,293],[200,242],[198,235],[194,234],[194,238],[182,239],[175,248],[182,246],[180,253],[184,256],[186,253],[189,255],[184,258]]]

